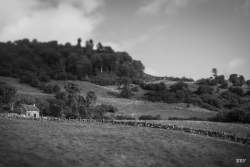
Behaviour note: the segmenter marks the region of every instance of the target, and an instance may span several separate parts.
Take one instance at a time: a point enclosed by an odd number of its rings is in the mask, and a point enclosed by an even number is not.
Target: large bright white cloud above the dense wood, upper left
[[[0,0],[1,1],[1,0]],[[37,38],[75,42],[102,21],[102,0],[8,0],[0,7],[0,40]]]

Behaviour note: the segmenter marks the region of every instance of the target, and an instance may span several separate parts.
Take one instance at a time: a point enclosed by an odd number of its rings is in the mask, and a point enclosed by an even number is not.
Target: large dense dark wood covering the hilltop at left
[[[142,77],[143,64],[133,60],[128,53],[114,52],[111,47],[101,44],[94,50],[93,45],[93,40],[89,40],[85,47],[81,47],[79,39],[77,46],[28,39],[0,43],[0,75],[17,77],[35,87],[50,79],[83,80],[103,72],[129,78]]]

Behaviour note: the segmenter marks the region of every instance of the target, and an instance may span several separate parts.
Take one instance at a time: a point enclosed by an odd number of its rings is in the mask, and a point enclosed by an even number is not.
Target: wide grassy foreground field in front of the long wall
[[[0,166],[238,166],[250,147],[183,132],[0,118]]]

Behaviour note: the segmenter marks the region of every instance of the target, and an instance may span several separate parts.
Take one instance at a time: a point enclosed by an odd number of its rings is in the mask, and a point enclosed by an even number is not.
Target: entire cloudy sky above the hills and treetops
[[[250,78],[250,0],[0,0],[0,41],[93,38],[154,75]]]

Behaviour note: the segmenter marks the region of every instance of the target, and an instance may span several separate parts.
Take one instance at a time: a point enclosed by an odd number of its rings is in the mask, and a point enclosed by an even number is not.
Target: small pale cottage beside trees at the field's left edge
[[[21,104],[20,110],[21,110],[21,115],[24,115],[25,117],[29,118],[40,117],[40,111],[35,104],[34,105]]]

